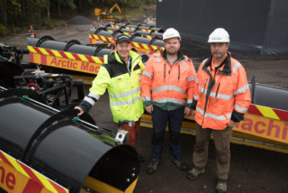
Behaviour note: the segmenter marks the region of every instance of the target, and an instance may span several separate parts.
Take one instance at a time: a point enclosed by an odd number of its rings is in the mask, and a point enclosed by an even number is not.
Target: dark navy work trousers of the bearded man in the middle
[[[175,109],[173,111],[166,111],[157,106],[153,106],[153,136],[151,158],[161,158],[167,121],[169,121],[168,128],[170,152],[176,160],[180,160],[182,158],[180,129],[183,119],[184,107]]]

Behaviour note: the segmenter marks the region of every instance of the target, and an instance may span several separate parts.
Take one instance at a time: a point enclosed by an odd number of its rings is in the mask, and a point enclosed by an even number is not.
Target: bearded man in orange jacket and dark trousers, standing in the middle
[[[187,170],[181,160],[180,129],[184,115],[191,113],[195,69],[192,60],[179,51],[179,32],[169,28],[163,33],[163,40],[165,51],[149,58],[140,81],[141,97],[146,111],[152,114],[153,121],[153,148],[147,168],[148,174],[157,170],[167,121],[172,161],[180,170]]]

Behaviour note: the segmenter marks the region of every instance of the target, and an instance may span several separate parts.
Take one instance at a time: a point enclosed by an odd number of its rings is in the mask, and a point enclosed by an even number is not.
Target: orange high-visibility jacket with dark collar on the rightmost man
[[[193,99],[197,102],[195,121],[202,128],[222,130],[230,120],[241,121],[251,103],[244,67],[229,53],[216,72],[212,57],[203,60],[195,78]]]

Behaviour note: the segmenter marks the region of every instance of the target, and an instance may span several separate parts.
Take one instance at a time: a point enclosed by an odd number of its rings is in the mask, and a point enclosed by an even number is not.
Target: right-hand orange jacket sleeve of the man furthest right
[[[239,122],[244,119],[244,115],[251,103],[251,94],[247,83],[247,75],[245,69],[242,65],[240,65],[238,69],[233,69],[233,72],[236,70],[238,71],[236,73],[238,74],[238,84],[236,85],[233,93],[235,97],[235,105],[231,115],[231,120],[234,122]]]

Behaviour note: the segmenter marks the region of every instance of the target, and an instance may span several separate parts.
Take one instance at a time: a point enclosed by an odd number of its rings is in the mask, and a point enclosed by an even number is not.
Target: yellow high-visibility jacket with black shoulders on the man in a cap
[[[130,51],[130,72],[117,51],[105,55],[104,64],[80,107],[85,111],[89,110],[107,88],[114,122],[138,121],[144,113],[140,97],[140,76],[143,69],[141,57],[135,51]]]

